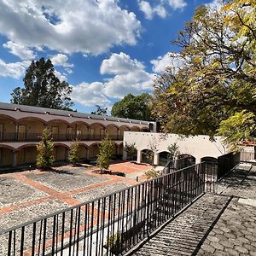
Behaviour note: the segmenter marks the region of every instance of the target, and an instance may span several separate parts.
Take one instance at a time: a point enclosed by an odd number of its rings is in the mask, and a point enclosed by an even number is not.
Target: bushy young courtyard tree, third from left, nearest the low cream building
[[[112,140],[110,140],[108,137],[104,138],[102,140],[101,146],[100,146],[100,152],[97,155],[97,163],[96,165],[100,167],[101,169],[107,169],[109,166],[109,158],[113,154],[114,150],[114,143]]]

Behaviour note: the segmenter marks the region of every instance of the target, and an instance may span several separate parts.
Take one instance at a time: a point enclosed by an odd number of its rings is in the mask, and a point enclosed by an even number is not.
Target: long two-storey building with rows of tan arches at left
[[[51,131],[55,161],[66,161],[76,138],[81,160],[96,158],[107,135],[115,143],[114,154],[122,155],[124,132],[148,131],[148,125],[147,121],[0,102],[0,168],[35,163],[44,128]]]

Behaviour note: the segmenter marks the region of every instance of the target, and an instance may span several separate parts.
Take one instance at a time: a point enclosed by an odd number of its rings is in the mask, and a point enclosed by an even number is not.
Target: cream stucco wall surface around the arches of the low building
[[[168,146],[173,143],[177,143],[181,154],[193,155],[196,163],[201,162],[201,158],[205,156],[218,158],[218,156],[228,153],[228,149],[221,142],[221,137],[215,137],[215,142],[211,142],[209,137],[204,135],[179,137],[177,134],[125,131],[124,144],[125,142],[135,143],[138,162],[141,162],[143,149],[155,148],[154,164],[158,164],[159,153],[167,151]],[[125,152],[124,159],[126,159]]]

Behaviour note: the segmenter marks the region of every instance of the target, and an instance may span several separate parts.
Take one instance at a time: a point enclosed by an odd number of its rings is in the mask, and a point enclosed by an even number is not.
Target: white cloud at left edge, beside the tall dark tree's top
[[[20,79],[20,77],[25,74],[26,67],[30,64],[30,61],[6,63],[0,59],[0,77]]]

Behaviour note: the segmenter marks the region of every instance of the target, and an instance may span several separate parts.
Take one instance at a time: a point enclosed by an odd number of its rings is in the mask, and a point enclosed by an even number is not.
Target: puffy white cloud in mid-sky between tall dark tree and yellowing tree
[[[73,101],[84,106],[109,103],[109,98],[123,98],[128,93],[139,95],[153,89],[154,73],[147,73],[142,62],[132,60],[125,53],[112,54],[102,61],[102,74],[112,74],[113,78],[103,83],[78,84],[73,86]],[[103,102],[103,103],[102,103]]]

